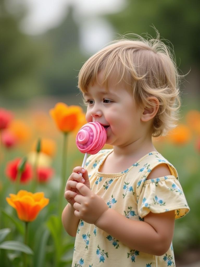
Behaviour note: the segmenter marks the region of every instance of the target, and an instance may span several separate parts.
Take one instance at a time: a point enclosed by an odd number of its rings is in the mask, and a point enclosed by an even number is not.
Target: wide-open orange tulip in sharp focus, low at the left
[[[34,221],[39,213],[48,203],[49,199],[44,197],[43,192],[31,193],[19,190],[17,195],[9,194],[6,201],[17,211],[18,218],[25,222]]]

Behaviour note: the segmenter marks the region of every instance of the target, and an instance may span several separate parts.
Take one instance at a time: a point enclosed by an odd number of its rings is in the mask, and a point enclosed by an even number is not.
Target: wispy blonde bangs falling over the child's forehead
[[[131,55],[131,48],[127,51],[127,47],[124,47],[125,41],[121,41],[123,44],[110,45],[100,50],[92,57],[90,57],[82,66],[78,75],[78,88],[83,92],[87,92],[89,85],[93,85],[98,81],[98,73],[103,71],[102,83],[100,85],[105,86],[108,89],[108,80],[111,76],[114,76],[116,84],[121,81],[125,82],[127,88],[132,88],[134,82],[141,79],[139,77],[133,64],[133,56]],[[133,45],[133,44],[132,44]],[[127,55],[127,52],[128,55]]]

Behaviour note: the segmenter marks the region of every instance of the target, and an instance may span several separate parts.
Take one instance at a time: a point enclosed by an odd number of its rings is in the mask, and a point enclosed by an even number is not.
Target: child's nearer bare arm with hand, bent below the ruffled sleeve
[[[161,169],[163,168],[160,168],[160,172]],[[157,167],[156,176],[158,172]],[[165,171],[164,175],[162,172],[157,177],[166,176],[169,173]],[[151,175],[151,179],[153,177],[154,175]],[[144,222],[134,221],[114,209],[109,209],[102,198],[93,194],[83,184],[78,183],[77,188],[81,195],[74,198],[76,201],[74,214],[78,218],[94,223],[123,244],[141,252],[160,256],[169,249],[174,232],[174,211],[160,214],[150,212],[144,217]]]

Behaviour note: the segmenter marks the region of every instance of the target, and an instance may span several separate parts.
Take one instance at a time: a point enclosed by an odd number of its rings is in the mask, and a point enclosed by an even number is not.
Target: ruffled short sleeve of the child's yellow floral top
[[[152,213],[163,213],[174,210],[175,219],[185,216],[189,207],[182,187],[174,175],[161,178],[143,178],[137,187],[138,214],[145,217]]]

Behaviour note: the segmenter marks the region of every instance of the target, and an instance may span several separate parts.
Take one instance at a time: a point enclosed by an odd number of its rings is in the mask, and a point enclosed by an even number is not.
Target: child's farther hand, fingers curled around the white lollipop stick
[[[83,176],[81,176],[79,172],[82,172]],[[79,191],[76,188],[78,182],[84,183],[85,186],[90,189],[90,181],[87,170],[80,166],[74,168],[73,173],[69,176],[65,187],[65,198],[71,205],[73,205],[75,202],[74,197],[79,194]]]

